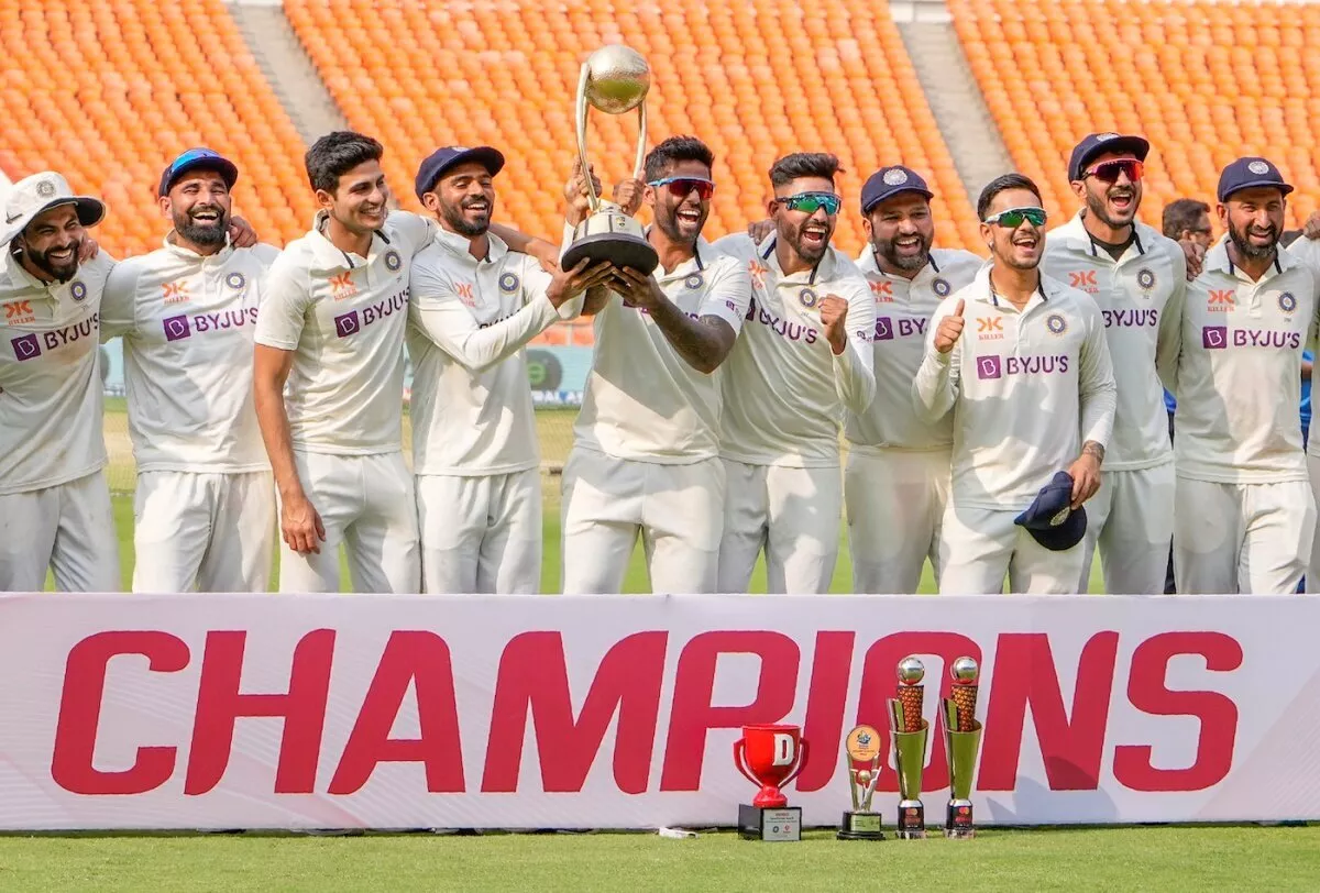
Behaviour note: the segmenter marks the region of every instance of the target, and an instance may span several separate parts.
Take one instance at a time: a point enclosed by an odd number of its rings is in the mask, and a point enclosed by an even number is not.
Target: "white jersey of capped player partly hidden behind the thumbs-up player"
[[[849,413],[845,435],[862,452],[946,450],[953,418],[928,423],[912,405],[912,379],[925,356],[925,334],[936,307],[969,285],[985,259],[970,251],[933,248],[931,261],[911,280],[880,270],[866,247],[857,259],[875,298],[875,400],[865,413]]]

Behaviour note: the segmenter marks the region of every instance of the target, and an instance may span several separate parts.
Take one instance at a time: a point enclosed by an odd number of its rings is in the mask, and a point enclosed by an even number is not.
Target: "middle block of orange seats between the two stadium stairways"
[[[863,243],[865,177],[894,161],[921,171],[941,197],[941,244],[978,241],[883,4],[825,0],[809,15],[792,0],[285,0],[284,8],[350,124],[385,144],[404,207],[418,207],[416,165],[437,145],[491,144],[508,156],[498,215],[557,239],[579,66],[598,46],[624,42],[652,67],[649,142],[693,133],[717,154],[709,233],[766,215],[766,174],[777,156],[828,150],[847,171],[837,235],[846,251]],[[631,173],[635,113],[593,113],[587,140],[602,179]]]

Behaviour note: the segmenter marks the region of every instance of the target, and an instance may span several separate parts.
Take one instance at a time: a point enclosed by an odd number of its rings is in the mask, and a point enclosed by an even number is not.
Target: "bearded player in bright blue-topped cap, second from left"
[[[275,483],[252,398],[272,245],[230,239],[238,166],[189,149],[161,174],[164,247],[117,264],[102,336],[124,336],[135,592],[265,592]]]

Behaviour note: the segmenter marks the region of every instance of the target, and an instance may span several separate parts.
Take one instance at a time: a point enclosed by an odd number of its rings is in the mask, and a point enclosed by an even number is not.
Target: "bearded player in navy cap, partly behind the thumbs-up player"
[[[936,307],[969,285],[983,260],[932,248],[932,197],[920,174],[902,165],[882,168],[862,186],[867,247],[857,265],[875,301],[875,400],[865,413],[850,412],[845,427],[854,592],[916,592],[927,558],[940,576],[953,418],[920,418],[912,380]]]

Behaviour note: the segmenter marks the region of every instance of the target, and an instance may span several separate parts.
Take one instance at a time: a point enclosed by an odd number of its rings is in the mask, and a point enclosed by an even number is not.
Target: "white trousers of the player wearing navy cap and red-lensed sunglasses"
[[[1173,463],[1138,471],[1106,471],[1086,500],[1078,592],[1090,586],[1090,562],[1100,546],[1105,592],[1159,595],[1168,574],[1173,539]]]

